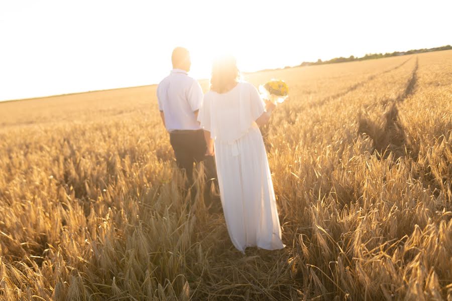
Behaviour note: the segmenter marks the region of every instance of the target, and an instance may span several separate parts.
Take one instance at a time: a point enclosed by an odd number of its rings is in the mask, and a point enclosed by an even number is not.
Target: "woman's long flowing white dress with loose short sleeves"
[[[199,109],[201,127],[214,139],[224,218],[234,246],[274,250],[285,245],[261,131],[255,120],[263,101],[250,83],[226,93],[209,91]]]

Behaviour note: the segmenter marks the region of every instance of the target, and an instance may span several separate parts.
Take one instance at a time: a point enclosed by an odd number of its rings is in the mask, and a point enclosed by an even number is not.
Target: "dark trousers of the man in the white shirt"
[[[188,184],[193,182],[193,163],[204,163],[204,174],[206,185],[204,200],[208,203],[212,201],[209,189],[211,183],[218,185],[216,180],[216,168],[213,156],[205,156],[207,145],[204,139],[204,131],[200,130],[179,130],[170,132],[170,142],[174,150],[177,166],[185,170]]]

